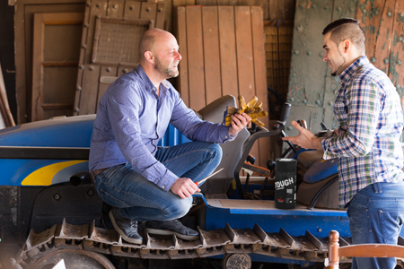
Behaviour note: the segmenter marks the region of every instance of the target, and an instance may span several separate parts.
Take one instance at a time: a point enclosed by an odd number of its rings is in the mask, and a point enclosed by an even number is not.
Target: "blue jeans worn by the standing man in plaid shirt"
[[[404,182],[374,183],[359,191],[349,203],[347,215],[354,244],[397,245],[404,221]],[[352,260],[352,269],[394,269],[395,258]]]

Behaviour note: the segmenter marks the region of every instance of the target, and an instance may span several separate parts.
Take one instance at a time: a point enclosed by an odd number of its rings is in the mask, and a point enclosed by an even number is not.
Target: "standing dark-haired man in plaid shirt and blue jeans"
[[[404,172],[400,135],[400,96],[389,77],[365,56],[364,30],[354,19],[340,19],[322,32],[332,75],[341,88],[334,106],[336,136],[320,138],[299,131],[284,140],[338,157],[339,204],[347,207],[354,244],[397,244],[404,221]],[[354,258],[352,268],[393,269],[395,258]]]

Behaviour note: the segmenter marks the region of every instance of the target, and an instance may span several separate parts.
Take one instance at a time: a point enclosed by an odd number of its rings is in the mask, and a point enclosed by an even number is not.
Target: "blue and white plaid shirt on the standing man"
[[[345,206],[375,182],[400,182],[403,114],[400,96],[389,77],[357,59],[339,75],[342,85],[334,105],[338,136],[321,141],[323,158],[339,158],[339,204]]]

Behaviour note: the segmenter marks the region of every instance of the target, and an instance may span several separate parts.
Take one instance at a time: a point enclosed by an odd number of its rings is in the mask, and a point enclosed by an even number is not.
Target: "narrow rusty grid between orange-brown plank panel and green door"
[[[269,109],[271,114],[279,117],[283,101],[287,96],[290,71],[293,26],[290,22],[267,21],[265,30],[265,54],[267,60],[267,83]]]

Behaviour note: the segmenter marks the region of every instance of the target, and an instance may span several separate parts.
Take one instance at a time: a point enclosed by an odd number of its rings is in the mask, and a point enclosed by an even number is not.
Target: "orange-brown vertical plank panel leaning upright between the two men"
[[[224,96],[257,96],[268,111],[264,25],[259,6],[178,7],[180,45],[178,90],[189,108],[199,110]],[[268,127],[268,117],[260,118]],[[251,154],[265,165],[268,139]]]

